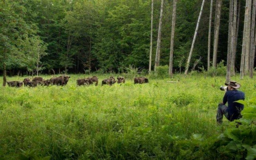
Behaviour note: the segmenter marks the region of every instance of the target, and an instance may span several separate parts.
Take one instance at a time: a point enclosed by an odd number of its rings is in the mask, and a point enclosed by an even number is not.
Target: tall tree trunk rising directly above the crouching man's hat
[[[230,68],[231,68],[231,55],[233,53],[234,46],[234,30],[233,30],[233,9],[234,0],[229,0],[229,34],[228,34],[228,46],[227,46],[227,72],[226,83],[230,81]]]

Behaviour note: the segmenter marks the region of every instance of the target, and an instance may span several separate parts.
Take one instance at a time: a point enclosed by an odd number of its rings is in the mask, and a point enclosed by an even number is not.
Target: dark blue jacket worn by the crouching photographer
[[[227,119],[234,121],[241,117],[241,111],[244,109],[244,105],[237,103],[237,100],[244,100],[244,92],[238,90],[227,91],[223,97],[223,104],[228,103],[227,106]]]

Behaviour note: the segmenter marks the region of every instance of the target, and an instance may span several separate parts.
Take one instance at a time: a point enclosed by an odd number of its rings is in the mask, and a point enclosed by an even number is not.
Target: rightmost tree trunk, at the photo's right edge
[[[256,12],[256,0],[253,0],[252,4],[252,30],[251,30],[251,51],[250,51],[250,65],[249,65],[249,76],[253,78],[254,68],[254,56],[255,56],[255,12]]]

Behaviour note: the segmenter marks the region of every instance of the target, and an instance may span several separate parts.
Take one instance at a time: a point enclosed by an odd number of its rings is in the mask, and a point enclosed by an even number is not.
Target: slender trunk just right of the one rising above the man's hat
[[[236,37],[234,40],[234,52],[231,55],[231,71],[230,71],[230,76],[234,76],[235,75],[235,64],[236,64],[236,52],[237,52],[237,39],[238,39],[238,30],[239,30],[239,23],[240,23],[240,11],[241,11],[241,0],[239,0],[239,4],[238,4],[238,16],[237,16],[237,0],[234,1],[234,23],[233,26],[236,25],[236,27],[234,27],[234,30],[236,32]],[[237,21],[236,21],[236,17],[237,16]]]

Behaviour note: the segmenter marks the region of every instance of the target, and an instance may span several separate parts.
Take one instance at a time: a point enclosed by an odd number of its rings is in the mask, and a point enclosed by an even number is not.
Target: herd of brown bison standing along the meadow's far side
[[[30,78],[25,78],[23,81],[7,81],[7,84],[9,87],[22,87],[23,83],[24,86],[27,87],[37,87],[37,85],[44,85],[44,86],[49,86],[51,85],[66,85],[69,80],[69,76],[59,76],[59,77],[53,77],[49,80],[44,80],[42,77],[34,77],[32,81],[30,81]],[[101,85],[112,85],[114,83],[125,83],[124,77],[117,77],[117,80],[111,76],[108,79],[102,80]],[[91,85],[94,84],[98,85],[98,77],[93,76],[93,77],[88,77],[84,79],[78,79],[76,80],[77,85]],[[148,83],[148,79],[145,77],[135,77],[134,78],[134,84],[139,83]]]

